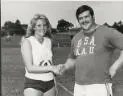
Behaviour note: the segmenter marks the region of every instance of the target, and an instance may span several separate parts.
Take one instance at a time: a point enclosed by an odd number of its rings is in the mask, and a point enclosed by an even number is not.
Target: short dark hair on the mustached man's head
[[[93,9],[90,6],[88,6],[88,5],[82,5],[76,11],[76,18],[77,18],[77,20],[78,20],[79,15],[81,13],[83,13],[84,11],[89,11],[90,14],[91,14],[91,16],[94,16],[94,11],[93,11]]]

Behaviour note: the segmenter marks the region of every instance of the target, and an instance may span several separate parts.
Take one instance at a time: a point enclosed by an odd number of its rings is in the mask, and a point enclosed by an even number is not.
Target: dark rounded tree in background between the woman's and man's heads
[[[72,28],[74,25],[64,19],[61,19],[58,21],[58,24],[57,24],[57,30],[59,32],[65,32],[65,31],[68,31],[70,28]]]

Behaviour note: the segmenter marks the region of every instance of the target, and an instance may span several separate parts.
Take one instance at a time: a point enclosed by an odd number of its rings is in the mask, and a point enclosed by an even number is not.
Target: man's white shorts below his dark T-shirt
[[[75,83],[74,96],[112,96],[112,84],[79,85]],[[110,91],[110,92],[109,92]]]

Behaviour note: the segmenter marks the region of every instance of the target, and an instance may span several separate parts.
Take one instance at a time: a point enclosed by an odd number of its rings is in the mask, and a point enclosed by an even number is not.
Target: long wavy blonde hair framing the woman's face
[[[34,27],[36,25],[37,20],[39,20],[39,19],[43,19],[43,20],[46,21],[46,24],[47,24],[47,32],[45,34],[45,37],[52,38],[52,35],[51,35],[52,27],[51,27],[51,24],[50,24],[48,18],[44,14],[35,14],[34,15],[34,17],[30,21],[30,24],[27,27],[25,37],[29,37],[29,36],[34,35],[34,33],[35,33],[34,32]]]

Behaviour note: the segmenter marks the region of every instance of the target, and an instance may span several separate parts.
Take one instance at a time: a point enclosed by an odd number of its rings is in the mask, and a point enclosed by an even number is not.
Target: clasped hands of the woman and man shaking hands
[[[52,72],[56,75],[63,75],[63,73],[65,72],[65,65],[59,64],[52,66]]]

